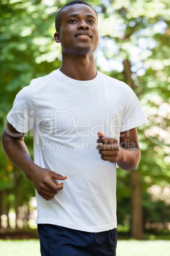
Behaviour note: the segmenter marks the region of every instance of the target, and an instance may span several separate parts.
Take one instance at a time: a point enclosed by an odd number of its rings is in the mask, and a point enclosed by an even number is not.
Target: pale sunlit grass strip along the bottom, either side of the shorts
[[[0,240],[1,255],[41,256],[39,240]],[[117,256],[170,256],[170,241],[122,240],[117,243]],[[69,255],[68,255],[69,256]]]

